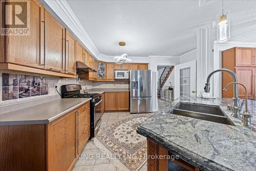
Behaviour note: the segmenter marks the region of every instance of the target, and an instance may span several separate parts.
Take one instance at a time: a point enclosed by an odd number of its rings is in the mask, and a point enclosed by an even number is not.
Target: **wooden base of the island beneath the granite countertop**
[[[195,167],[186,161],[174,157],[170,154],[167,149],[162,147],[161,145],[155,143],[153,140],[147,138],[147,171],[167,171],[168,170],[168,162],[175,163],[175,168],[169,168],[169,170],[189,170],[189,171],[199,171],[198,167]],[[156,158],[155,156],[158,156]],[[174,155],[175,156],[175,155]],[[168,158],[174,158],[174,160],[170,160]],[[172,164],[173,165],[173,164]]]

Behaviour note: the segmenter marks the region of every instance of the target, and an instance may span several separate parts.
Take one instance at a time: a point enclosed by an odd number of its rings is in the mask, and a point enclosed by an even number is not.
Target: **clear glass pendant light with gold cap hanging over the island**
[[[217,15],[217,41],[224,42],[230,39],[229,10],[224,10],[224,0],[222,0],[222,12]]]

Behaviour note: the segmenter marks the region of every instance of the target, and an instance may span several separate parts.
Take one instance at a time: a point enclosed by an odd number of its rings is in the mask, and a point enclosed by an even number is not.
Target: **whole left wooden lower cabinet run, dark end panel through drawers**
[[[0,170],[71,170],[89,138],[90,102],[48,124],[1,125]]]

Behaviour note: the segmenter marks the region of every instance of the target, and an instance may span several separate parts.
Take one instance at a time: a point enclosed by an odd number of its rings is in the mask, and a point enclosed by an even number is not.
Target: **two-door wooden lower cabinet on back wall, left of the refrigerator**
[[[105,111],[129,111],[129,92],[105,92]]]

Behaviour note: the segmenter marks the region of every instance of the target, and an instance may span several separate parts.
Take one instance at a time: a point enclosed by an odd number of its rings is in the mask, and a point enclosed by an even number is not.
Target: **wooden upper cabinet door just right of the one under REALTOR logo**
[[[45,10],[45,69],[65,72],[65,28]]]

